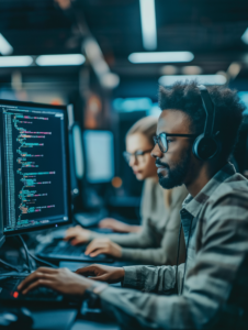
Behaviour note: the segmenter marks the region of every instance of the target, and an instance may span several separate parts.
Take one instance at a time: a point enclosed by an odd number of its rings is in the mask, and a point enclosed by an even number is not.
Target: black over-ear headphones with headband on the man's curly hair
[[[201,98],[203,109],[206,112],[206,121],[204,127],[204,133],[199,135],[193,144],[192,151],[195,157],[201,161],[207,161],[213,158],[221,152],[222,145],[219,140],[216,138],[216,133],[214,133],[214,122],[215,122],[215,107],[211,100],[210,94],[205,86],[198,86]]]

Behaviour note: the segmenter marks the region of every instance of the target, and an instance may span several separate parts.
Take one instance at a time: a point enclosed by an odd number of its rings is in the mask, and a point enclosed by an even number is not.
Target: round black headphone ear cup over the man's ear
[[[213,138],[204,138],[199,135],[193,144],[193,154],[201,161],[213,158],[219,152],[219,143]]]

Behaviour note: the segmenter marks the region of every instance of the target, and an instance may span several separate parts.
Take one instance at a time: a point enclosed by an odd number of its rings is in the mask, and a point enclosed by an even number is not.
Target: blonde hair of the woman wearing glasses
[[[126,138],[135,133],[142,133],[148,139],[150,144],[154,145],[153,138],[154,135],[156,135],[157,124],[158,124],[158,118],[156,117],[148,116],[142,118],[135,124],[133,124],[133,127],[127,131]],[[170,207],[171,205],[171,195],[172,195],[172,189],[164,190],[165,204],[167,207]]]

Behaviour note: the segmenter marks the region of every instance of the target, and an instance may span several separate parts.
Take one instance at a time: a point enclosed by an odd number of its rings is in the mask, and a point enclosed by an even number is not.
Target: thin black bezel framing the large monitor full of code
[[[23,228],[20,230],[12,231],[4,231],[3,228],[3,235],[5,237],[13,237],[19,234],[24,234],[29,232],[35,232],[45,230],[48,228],[58,228],[63,226],[68,226],[72,223],[72,205],[71,205],[71,191],[70,191],[70,162],[69,162],[69,132],[68,132],[68,112],[67,106],[53,106],[53,105],[45,105],[45,103],[36,103],[36,102],[26,102],[26,101],[11,101],[11,100],[2,100],[0,99],[0,105],[3,106],[16,106],[16,107],[33,107],[38,109],[53,109],[53,110],[63,110],[65,114],[65,151],[66,151],[66,166],[67,166],[67,202],[68,202],[68,220],[57,223],[48,223],[42,224],[35,228]],[[3,194],[3,191],[1,191]],[[3,215],[1,215],[3,217]],[[3,218],[2,218],[3,219]]]

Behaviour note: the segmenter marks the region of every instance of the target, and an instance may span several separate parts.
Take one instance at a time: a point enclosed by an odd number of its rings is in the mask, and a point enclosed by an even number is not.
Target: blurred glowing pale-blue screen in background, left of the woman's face
[[[91,184],[114,177],[114,138],[110,131],[84,131],[86,178]]]

